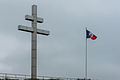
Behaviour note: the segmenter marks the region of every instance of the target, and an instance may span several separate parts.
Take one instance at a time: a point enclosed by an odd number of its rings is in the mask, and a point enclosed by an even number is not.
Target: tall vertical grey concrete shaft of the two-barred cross
[[[32,6],[32,21],[33,33],[32,33],[32,47],[31,47],[31,77],[37,77],[37,6]]]

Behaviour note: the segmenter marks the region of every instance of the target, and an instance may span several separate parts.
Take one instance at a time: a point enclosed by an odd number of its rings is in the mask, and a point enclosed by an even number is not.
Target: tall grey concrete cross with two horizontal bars
[[[37,17],[37,5],[32,5],[32,16],[26,15],[25,20],[32,21],[32,27],[18,26],[18,30],[32,33],[31,47],[31,78],[37,78],[37,34],[49,35],[49,31],[37,29],[37,22],[43,23],[43,19]]]

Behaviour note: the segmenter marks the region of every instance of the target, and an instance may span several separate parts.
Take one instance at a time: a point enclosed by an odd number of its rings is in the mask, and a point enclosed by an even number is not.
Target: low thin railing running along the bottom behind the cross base
[[[56,80],[84,80],[84,79],[78,79],[78,78],[49,77],[49,76],[38,76],[37,78],[41,80],[55,80],[55,79]],[[0,73],[0,80],[5,80],[5,79],[24,80],[24,79],[30,79],[30,75]]]

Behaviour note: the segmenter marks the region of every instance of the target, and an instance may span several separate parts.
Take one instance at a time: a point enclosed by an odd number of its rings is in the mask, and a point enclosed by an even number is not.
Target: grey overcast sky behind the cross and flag
[[[0,73],[30,74],[31,34],[18,25],[32,4],[44,23],[38,35],[38,75],[84,78],[85,27],[97,35],[88,39],[88,77],[120,80],[119,0],[0,0]]]

